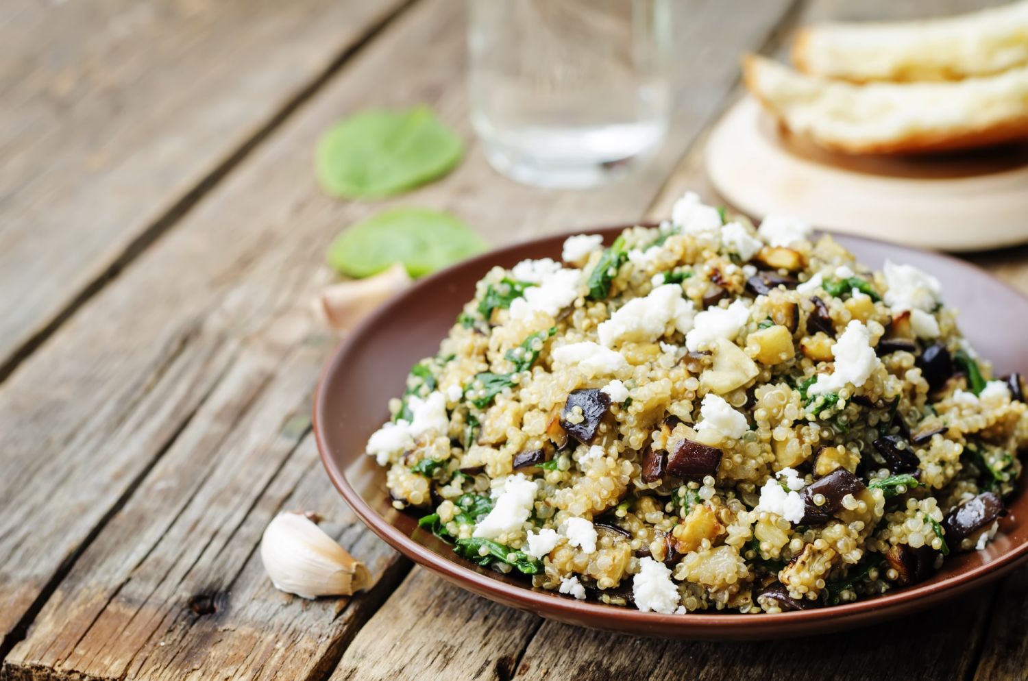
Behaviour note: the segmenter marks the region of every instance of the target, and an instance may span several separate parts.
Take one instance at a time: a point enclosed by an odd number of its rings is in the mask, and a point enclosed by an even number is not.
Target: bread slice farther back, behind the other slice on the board
[[[1028,0],[920,22],[815,25],[797,36],[793,63],[856,82],[1000,73],[1028,65]]]

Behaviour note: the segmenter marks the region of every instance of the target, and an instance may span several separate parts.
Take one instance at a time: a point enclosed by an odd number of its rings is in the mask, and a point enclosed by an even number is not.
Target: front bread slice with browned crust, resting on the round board
[[[746,87],[796,135],[850,154],[968,149],[1028,139],[1028,66],[938,83],[853,83],[743,59]]]

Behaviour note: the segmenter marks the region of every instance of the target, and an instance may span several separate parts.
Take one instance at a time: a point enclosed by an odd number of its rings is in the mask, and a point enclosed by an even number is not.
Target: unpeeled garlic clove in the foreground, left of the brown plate
[[[368,568],[302,514],[276,516],[260,557],[274,588],[301,598],[348,596],[371,583]]]

